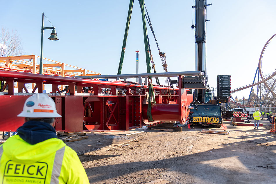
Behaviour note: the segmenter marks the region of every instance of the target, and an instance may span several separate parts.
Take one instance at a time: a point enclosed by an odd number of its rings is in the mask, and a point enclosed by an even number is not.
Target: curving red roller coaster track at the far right
[[[266,44],[264,45],[263,50],[261,51],[261,55],[260,55],[260,58],[259,58],[258,67],[259,67],[259,71],[260,71],[260,75],[261,75],[261,79],[262,79],[262,80],[259,81],[259,82],[255,82],[255,83],[253,83],[253,84],[248,84],[248,85],[246,85],[246,86],[242,86],[242,87],[236,88],[236,89],[232,90],[232,93],[235,93],[235,92],[237,92],[237,91],[241,91],[241,90],[243,90],[243,89],[247,89],[247,88],[250,88],[250,87],[252,87],[252,86],[256,86],[256,85],[258,85],[258,84],[264,83],[264,85],[267,87],[267,89],[269,89],[269,90],[271,91],[271,93],[273,93],[273,95],[276,96],[276,94],[274,93],[274,91],[271,90],[271,87],[268,86],[268,84],[266,83],[266,81],[272,79],[272,78],[276,75],[276,69],[275,69],[275,71],[274,71],[273,73],[271,73],[271,74],[268,75],[267,77],[264,77],[264,75],[263,75],[263,70],[262,70],[262,67],[261,67],[261,66],[262,66],[262,59],[263,59],[264,51],[266,50],[266,47],[267,47],[267,45],[269,44],[269,42],[270,42],[275,36],[276,36],[276,34],[273,35],[272,37],[270,37],[270,39],[268,39],[268,41],[267,41]],[[234,101],[232,102],[232,100],[231,100],[231,103],[234,103],[234,104],[235,104],[235,102],[234,102]],[[240,105],[240,104],[239,104],[239,105]],[[240,105],[240,106],[242,106],[242,105]]]

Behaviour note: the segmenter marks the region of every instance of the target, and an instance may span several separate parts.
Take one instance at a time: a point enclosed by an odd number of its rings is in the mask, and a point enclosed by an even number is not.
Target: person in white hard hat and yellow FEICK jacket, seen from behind
[[[25,123],[0,146],[2,183],[89,183],[76,152],[57,139],[55,118],[61,116],[52,98],[36,93],[17,116]]]

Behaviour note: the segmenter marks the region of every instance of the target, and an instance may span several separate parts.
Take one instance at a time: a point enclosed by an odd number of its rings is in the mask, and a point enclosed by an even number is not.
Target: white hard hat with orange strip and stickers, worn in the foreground
[[[58,118],[61,117],[55,108],[55,102],[45,93],[36,93],[27,98],[19,117]]]

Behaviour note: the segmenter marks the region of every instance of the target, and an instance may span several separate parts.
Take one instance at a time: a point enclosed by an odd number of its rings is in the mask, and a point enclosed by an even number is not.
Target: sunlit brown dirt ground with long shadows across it
[[[79,156],[90,183],[275,183],[276,134],[268,121],[260,122],[259,130],[224,122],[229,135],[187,126],[181,132],[97,132],[67,145],[77,152],[101,148]],[[136,131],[144,132],[126,135]]]

